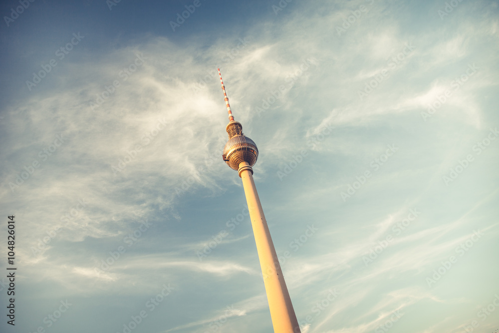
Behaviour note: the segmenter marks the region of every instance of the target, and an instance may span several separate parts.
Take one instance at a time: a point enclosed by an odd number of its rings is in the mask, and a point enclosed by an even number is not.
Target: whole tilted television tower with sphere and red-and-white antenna
[[[243,125],[234,120],[220,68],[218,71],[222,90],[224,91],[225,103],[227,104],[227,111],[229,112],[229,124],[226,127],[226,131],[229,134],[229,141],[225,145],[222,158],[232,169],[238,170],[239,177],[243,180],[256,250],[263,275],[263,284],[265,285],[268,307],[270,308],[272,326],[275,333],[300,333],[300,327],[294,314],[291,298],[289,297],[279,260],[275,253],[274,244],[268,231],[267,221],[263,215],[260,199],[254,186],[252,166],[258,158],[258,148],[256,148],[253,140],[243,134]]]

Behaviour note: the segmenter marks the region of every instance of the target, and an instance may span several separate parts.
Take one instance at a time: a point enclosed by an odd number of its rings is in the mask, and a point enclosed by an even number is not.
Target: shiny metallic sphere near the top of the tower
[[[258,148],[249,137],[235,135],[226,143],[222,157],[228,166],[238,170],[241,162],[248,162],[250,166],[256,163]]]

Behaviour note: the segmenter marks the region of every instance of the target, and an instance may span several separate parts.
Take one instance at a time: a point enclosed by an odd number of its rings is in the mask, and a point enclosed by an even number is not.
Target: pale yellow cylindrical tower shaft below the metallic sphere
[[[263,209],[254,185],[253,171],[247,162],[241,162],[239,170],[243,180],[248,210],[250,211],[251,226],[274,333],[299,333],[298,320],[294,313],[279,259],[275,253],[267,221],[263,215]]]

